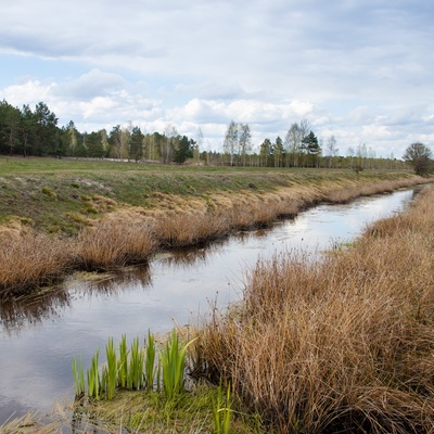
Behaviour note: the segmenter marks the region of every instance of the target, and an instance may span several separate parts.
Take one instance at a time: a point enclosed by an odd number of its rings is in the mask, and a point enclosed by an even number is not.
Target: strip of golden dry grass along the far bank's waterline
[[[0,293],[31,290],[69,268],[100,271],[144,263],[162,246],[197,244],[295,216],[321,201],[346,202],[420,181],[312,180],[268,193],[220,191],[189,199],[155,192],[146,209],[122,208],[111,199],[88,196],[89,213],[111,213],[97,220],[69,213],[69,218],[84,226],[75,239],[54,239],[16,228],[0,232],[0,241],[5,240],[0,252]]]

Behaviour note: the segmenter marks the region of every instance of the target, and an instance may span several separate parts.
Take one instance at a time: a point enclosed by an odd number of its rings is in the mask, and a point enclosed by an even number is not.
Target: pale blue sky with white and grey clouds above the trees
[[[342,155],[434,144],[432,0],[2,0],[0,99],[59,125],[252,141],[306,118]]]

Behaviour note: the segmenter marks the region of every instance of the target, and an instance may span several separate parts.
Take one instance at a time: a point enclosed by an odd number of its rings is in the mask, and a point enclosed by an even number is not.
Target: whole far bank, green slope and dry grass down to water
[[[2,298],[74,270],[145,263],[162,248],[266,226],[320,202],[426,182],[408,171],[8,164],[0,166]]]

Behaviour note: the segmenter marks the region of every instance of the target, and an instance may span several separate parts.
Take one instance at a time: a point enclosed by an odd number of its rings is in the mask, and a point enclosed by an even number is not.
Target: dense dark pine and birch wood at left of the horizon
[[[164,133],[143,133],[131,124],[80,132],[73,120],[59,127],[58,117],[43,102],[31,110],[0,102],[0,154],[149,159],[182,164],[193,158],[196,142],[168,126]]]

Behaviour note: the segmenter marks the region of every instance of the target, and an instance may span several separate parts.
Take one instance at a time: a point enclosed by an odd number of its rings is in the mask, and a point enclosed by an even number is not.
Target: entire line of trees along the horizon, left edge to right
[[[180,135],[168,125],[163,133],[145,133],[129,123],[112,130],[80,132],[73,120],[59,127],[58,117],[43,102],[31,110],[0,102],[0,154],[69,156],[161,162],[164,164],[195,164],[259,167],[327,167],[401,169],[411,164],[420,174],[432,169],[431,151],[423,143],[411,144],[404,159],[376,157],[365,143],[348,148],[340,154],[334,136],[318,139],[309,122],[293,123],[284,138],[266,138],[254,146],[248,124],[231,120],[221,151],[202,149],[203,136],[199,128],[195,139]]]

